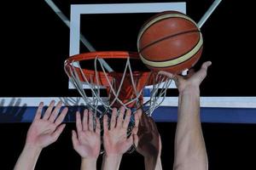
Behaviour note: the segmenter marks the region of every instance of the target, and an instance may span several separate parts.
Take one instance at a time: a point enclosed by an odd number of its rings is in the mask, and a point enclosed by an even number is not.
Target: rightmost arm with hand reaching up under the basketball
[[[200,71],[189,71],[186,77],[160,71],[160,74],[174,79],[179,91],[174,170],[208,169],[207,150],[201,131],[199,86],[211,64],[205,62]]]

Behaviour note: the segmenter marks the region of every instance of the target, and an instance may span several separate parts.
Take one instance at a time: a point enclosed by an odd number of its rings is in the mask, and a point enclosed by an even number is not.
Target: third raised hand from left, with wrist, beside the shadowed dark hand
[[[125,116],[125,119],[124,119]],[[137,135],[138,116],[135,114],[135,126],[132,129],[131,136],[127,138],[127,128],[131,118],[131,111],[126,111],[121,107],[117,118],[117,110],[113,109],[110,126],[108,127],[108,116],[103,118],[103,145],[105,155],[103,157],[102,169],[119,169],[119,163],[123,154],[133,144],[133,137]]]

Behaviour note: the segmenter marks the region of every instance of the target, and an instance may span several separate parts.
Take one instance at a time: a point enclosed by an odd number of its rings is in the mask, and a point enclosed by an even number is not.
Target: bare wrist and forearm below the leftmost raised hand
[[[38,161],[38,156],[41,153],[41,149],[34,147],[32,145],[25,145],[22,150],[18,161],[15,164],[15,170],[32,170],[36,166]]]

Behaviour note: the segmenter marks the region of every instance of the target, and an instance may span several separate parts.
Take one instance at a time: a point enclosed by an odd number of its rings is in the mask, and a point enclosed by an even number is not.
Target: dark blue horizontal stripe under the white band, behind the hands
[[[69,107],[65,122],[74,122],[78,110],[84,107]],[[0,107],[0,122],[32,122],[36,111],[37,107]],[[177,107],[160,107],[152,116],[155,122],[177,122]],[[201,122],[256,123],[256,109],[201,108]]]

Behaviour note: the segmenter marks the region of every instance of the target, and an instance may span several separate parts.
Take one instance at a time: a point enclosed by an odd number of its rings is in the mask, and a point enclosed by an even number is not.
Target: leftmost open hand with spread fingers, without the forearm
[[[26,144],[43,149],[49,144],[54,143],[59,138],[65,127],[65,124],[61,124],[61,122],[67,115],[67,108],[65,108],[58,116],[61,105],[62,102],[59,102],[55,106],[55,101],[51,101],[48,109],[44,113],[44,116],[41,118],[44,103],[40,103],[32,125],[28,129]]]

